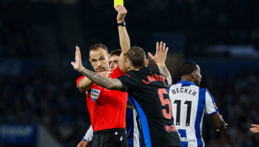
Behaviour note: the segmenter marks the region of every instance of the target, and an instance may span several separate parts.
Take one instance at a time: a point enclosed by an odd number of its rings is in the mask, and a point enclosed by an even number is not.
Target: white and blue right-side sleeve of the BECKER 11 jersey
[[[213,96],[211,96],[210,92],[208,90],[206,90],[206,113],[208,113],[208,115],[213,115],[215,113],[217,113],[217,107],[215,104],[215,100],[213,98]]]

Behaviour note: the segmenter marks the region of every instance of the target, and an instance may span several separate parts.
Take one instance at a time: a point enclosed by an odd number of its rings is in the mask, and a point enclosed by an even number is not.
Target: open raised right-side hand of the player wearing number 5
[[[165,48],[165,43],[163,41],[156,42],[156,55],[153,56],[151,53],[149,54],[149,58],[153,60],[154,63],[156,63],[158,66],[164,66],[166,56],[168,55],[168,47]]]

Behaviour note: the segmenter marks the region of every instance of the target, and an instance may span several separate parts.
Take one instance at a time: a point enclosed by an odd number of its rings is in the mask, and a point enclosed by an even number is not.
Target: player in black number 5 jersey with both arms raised
[[[172,79],[165,67],[168,48],[160,42],[156,44],[156,56],[149,56],[158,65],[159,72],[153,72],[147,65],[145,51],[133,46],[127,51],[127,68],[129,71],[117,79],[97,75],[82,66],[80,49],[76,50],[75,70],[87,76],[96,84],[107,89],[127,91],[134,102],[141,122],[142,146],[181,146],[179,134],[173,123],[171,101],[168,86]]]

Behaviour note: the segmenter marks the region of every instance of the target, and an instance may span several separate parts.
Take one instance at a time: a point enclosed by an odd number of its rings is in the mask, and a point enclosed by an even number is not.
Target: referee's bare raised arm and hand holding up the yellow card
[[[115,10],[118,11],[117,22],[122,23],[125,20],[127,10],[124,6],[118,5],[115,7]],[[118,26],[119,37],[120,37],[120,48],[122,53],[120,54],[119,67],[120,70],[127,72],[127,67],[125,63],[127,62],[126,53],[130,49],[130,37],[127,34],[126,27]]]

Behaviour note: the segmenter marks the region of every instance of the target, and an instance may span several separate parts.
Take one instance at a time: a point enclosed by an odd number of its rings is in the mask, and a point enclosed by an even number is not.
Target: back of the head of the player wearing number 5
[[[144,68],[146,53],[138,46],[132,46],[126,53],[127,61],[130,62],[134,68]]]

